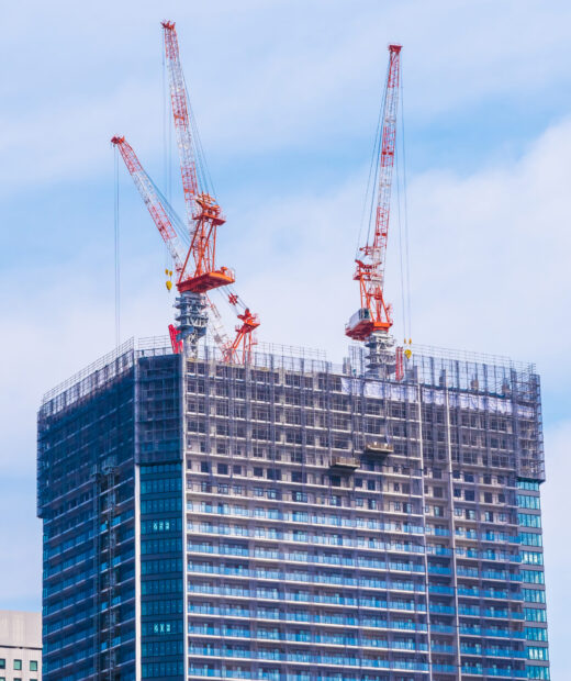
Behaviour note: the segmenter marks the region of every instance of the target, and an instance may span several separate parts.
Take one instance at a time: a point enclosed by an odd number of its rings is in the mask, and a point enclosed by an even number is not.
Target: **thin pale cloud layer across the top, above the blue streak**
[[[220,0],[208,9],[166,2],[160,11],[177,19],[209,155],[233,163],[247,163],[245,153],[368,142],[391,40],[405,45],[406,111],[417,125],[440,124],[435,116],[451,120],[499,94],[519,103],[560,99],[569,77],[571,9],[562,2],[408,0],[355,11],[340,1],[238,8]],[[0,127],[4,191],[108,174],[108,141],[117,131],[159,154],[155,3],[60,0],[20,3],[10,13],[0,46],[11,64],[1,83],[10,102]]]

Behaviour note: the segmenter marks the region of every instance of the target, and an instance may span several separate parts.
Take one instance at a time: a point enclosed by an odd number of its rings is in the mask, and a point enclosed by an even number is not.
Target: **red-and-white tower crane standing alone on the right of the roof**
[[[374,226],[356,258],[354,280],[359,282],[361,306],[345,326],[354,340],[369,348],[369,368],[378,370],[383,355],[392,347],[390,335],[392,308],[384,299],[384,267],[391,209],[391,187],[396,141],[396,111],[401,79],[401,45],[389,45],[389,70],[382,103],[381,144],[378,163],[377,211]]]

